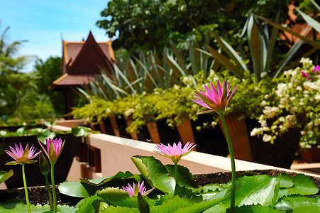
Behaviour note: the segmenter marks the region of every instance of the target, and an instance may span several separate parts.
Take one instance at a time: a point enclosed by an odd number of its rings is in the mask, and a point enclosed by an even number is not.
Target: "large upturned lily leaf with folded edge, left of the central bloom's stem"
[[[153,156],[136,155],[131,160],[138,168],[143,178],[151,187],[155,187],[161,192],[172,192],[175,190],[175,179],[170,177],[167,169]]]

